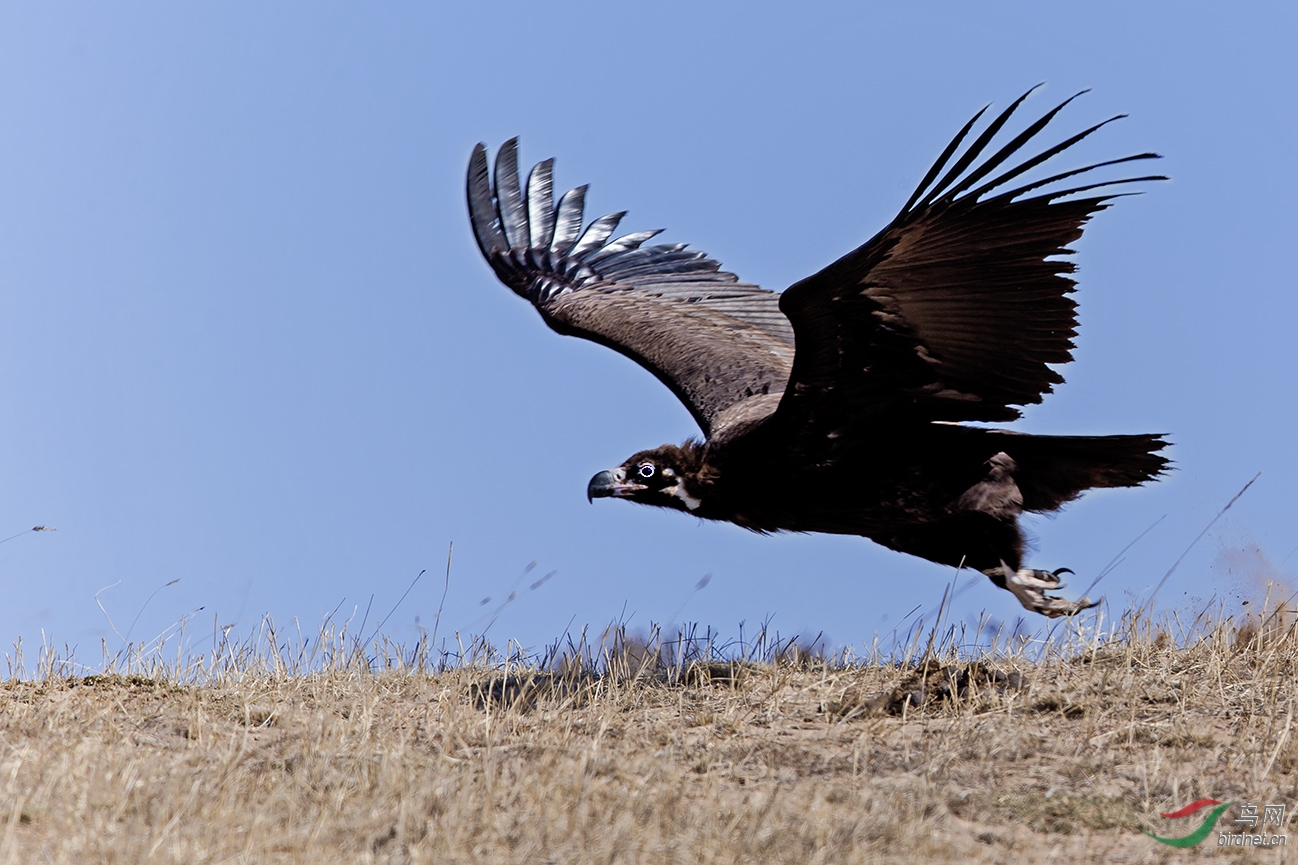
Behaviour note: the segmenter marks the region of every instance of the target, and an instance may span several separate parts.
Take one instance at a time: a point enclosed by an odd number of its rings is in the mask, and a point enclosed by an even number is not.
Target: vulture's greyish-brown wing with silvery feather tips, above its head
[[[779,295],[740,282],[685,244],[643,245],[658,231],[609,236],[624,213],[582,230],[585,188],[553,201],[554,160],[532,169],[523,191],[518,139],[469,160],[469,216],[478,248],[506,286],[553,330],[613,348],[676,394],[704,434],[749,397],[780,394],[793,362],[793,329]]]

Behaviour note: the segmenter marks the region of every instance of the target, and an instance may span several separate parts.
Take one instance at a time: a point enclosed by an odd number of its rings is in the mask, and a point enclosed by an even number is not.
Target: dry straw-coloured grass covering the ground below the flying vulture
[[[1294,625],[1068,627],[974,666],[953,639],[919,665],[618,644],[535,678],[337,634],[45,657],[0,683],[0,861],[1282,861],[1141,830],[1298,807]]]

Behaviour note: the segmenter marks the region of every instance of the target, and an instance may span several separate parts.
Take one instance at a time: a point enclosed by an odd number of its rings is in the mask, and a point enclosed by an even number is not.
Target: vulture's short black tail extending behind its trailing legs
[[[1007,443],[1010,444],[1010,443]],[[1151,435],[1024,435],[1006,452],[1024,510],[1054,510],[1094,487],[1134,487],[1166,473],[1168,445]]]

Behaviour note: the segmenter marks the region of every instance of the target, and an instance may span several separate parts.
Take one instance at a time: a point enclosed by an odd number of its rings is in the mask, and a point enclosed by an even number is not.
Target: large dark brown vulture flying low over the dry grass
[[[757,533],[862,535],[977,569],[1049,617],[1094,607],[1046,594],[1067,568],[1023,566],[1019,516],[1155,479],[1168,442],[971,423],[1014,421],[1063,382],[1054,366],[1072,360],[1077,332],[1068,244],[1129,184],[1167,178],[1090,174],[1157,153],[1023,178],[1123,117],[1035,144],[1073,96],[993,148],[1028,94],[962,149],[989,107],[977,112],[892,222],[779,294],[687,244],[645,245],[659,231],[610,240],[624,212],[583,227],[587,187],[556,205],[553,160],[524,187],[518,139],[501,145],[493,175],[478,144],[469,216],[500,281],[550,329],[648,369],[704,432],[600,471],[587,496]]]

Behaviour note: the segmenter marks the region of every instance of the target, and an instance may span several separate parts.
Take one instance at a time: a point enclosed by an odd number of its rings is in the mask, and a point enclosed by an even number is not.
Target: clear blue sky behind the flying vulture
[[[591,184],[783,288],[881,227],[954,131],[1029,86],[1063,160],[1173,179],[1077,244],[1068,383],[1015,429],[1166,431],[1175,474],[1033,518],[1070,596],[1238,600],[1298,571],[1289,4],[6,4],[0,8],[0,639],[99,657],[183,617],[413,642],[679,618],[868,642],[951,574],[867,540],[762,538],[584,497],[696,432],[648,373],[550,332],[480,260],[471,147]],[[1288,561],[1284,561],[1290,556]],[[536,568],[523,575],[531,561]],[[530,584],[556,571],[539,588]],[[711,574],[710,584],[691,596]],[[145,607],[147,599],[165,587]],[[981,579],[981,578],[980,578]],[[493,600],[485,605],[484,597]],[[1232,601],[1234,603],[1234,601]],[[143,608],[143,613],[140,613]],[[958,616],[1014,617],[989,583]]]

